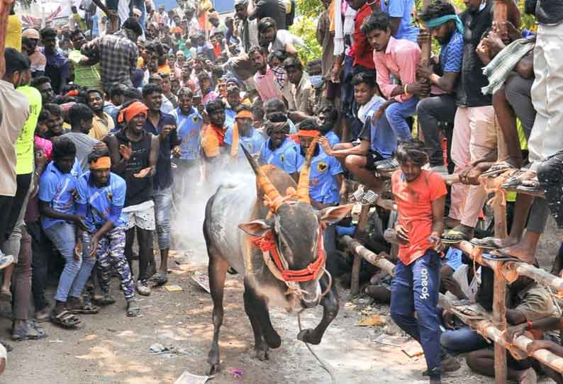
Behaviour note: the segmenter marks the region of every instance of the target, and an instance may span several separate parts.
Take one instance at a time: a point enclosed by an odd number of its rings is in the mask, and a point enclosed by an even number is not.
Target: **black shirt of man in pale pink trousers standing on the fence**
[[[460,107],[490,106],[492,96],[481,92],[481,88],[489,84],[489,79],[483,74],[484,64],[475,50],[486,30],[492,26],[493,0],[488,0],[482,11],[476,13],[464,11],[459,18],[462,19],[465,32],[462,75],[457,86],[456,104]]]

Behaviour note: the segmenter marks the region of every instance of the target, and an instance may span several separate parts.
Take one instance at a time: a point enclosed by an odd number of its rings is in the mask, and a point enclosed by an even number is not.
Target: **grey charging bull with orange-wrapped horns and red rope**
[[[230,267],[243,273],[245,312],[254,332],[256,358],[262,361],[267,360],[270,348],[282,344],[272,327],[269,306],[296,312],[320,303],[323,317],[317,327],[297,335],[310,344],[320,343],[338,314],[338,295],[325,270],[322,234],[323,226],[342,220],[351,205],[313,210],[308,196],[313,148],[296,185],[282,169],[259,166],[243,147],[255,175],[223,183],[206,205],[204,237],[213,298],[209,374],[221,369],[218,340]]]

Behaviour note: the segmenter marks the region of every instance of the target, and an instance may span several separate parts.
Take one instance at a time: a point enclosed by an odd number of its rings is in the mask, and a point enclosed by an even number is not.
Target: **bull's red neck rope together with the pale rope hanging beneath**
[[[299,293],[301,288],[299,288],[299,284],[297,283],[316,280],[324,271],[326,257],[325,249],[323,248],[323,233],[320,230],[317,242],[317,259],[305,269],[300,269],[299,271],[289,269],[289,264],[285,257],[277,249],[277,244],[272,232],[266,232],[261,237],[255,237],[252,239],[252,244],[262,251],[264,264],[266,264],[269,271],[271,271],[276,278],[286,283],[288,286],[286,295]]]

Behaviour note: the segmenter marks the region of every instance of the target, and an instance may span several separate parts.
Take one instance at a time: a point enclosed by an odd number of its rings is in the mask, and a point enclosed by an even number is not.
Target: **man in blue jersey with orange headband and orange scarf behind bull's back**
[[[238,142],[236,149],[233,148],[233,143],[235,142]],[[240,147],[245,147],[250,154],[257,154],[260,152],[264,142],[266,142],[264,137],[252,127],[251,108],[249,106],[240,106],[235,116],[235,124],[229,127],[225,133],[225,144],[230,146],[231,156],[243,159],[246,163],[245,154],[240,150]]]

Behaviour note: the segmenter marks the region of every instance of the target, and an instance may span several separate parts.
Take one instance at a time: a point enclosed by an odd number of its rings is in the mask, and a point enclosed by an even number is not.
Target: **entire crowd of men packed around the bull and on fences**
[[[418,10],[414,0],[323,0],[322,56],[307,63],[306,43],[289,31],[293,1],[235,0],[234,17],[223,19],[208,0],[168,12],[150,0],[124,3],[73,7],[62,28],[22,27],[13,9],[9,16],[0,300],[12,304],[11,338],[43,339],[48,320],[77,329],[79,315],[116,302],[113,276],[126,315],[140,315],[136,295],[167,283],[174,202],[213,188],[222,171],[250,171],[244,152],[297,180],[316,145],[309,193],[318,210],[348,198],[376,203],[394,171],[398,219],[383,248],[399,244],[396,272],[372,278],[364,293],[391,303],[393,320],[420,342],[430,383],[459,368],[451,356],[459,352],[494,375],[487,341],[436,310],[440,291],[490,310],[491,271],[444,247],[471,240],[533,264],[550,213],[563,226],[563,2],[526,0],[537,23],[530,31],[513,0],[465,0],[464,11],[447,0]],[[420,47],[433,43],[439,51],[425,64]],[[507,172],[499,188],[516,193],[510,235],[486,237],[478,223],[490,191],[481,180]],[[451,189],[447,174],[458,176]],[[324,233],[328,270],[342,281],[335,238],[353,231],[341,222]],[[563,356],[542,332],[561,327],[550,293],[523,277],[509,293],[507,340],[530,332],[529,351]],[[533,358],[508,361],[520,383],[539,374],[563,383]]]

